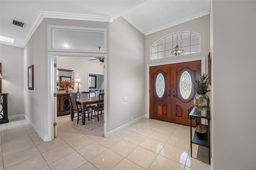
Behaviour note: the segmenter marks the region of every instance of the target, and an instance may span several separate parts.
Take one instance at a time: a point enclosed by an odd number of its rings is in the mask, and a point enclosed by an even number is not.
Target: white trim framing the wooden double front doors
[[[188,59],[180,59],[180,60],[175,60],[175,61],[166,61],[166,62],[162,62],[162,63],[152,63],[152,64],[148,64],[147,65],[147,91],[146,91],[146,118],[149,118],[149,107],[150,107],[150,103],[149,103],[149,67],[152,66],[157,66],[157,65],[166,65],[166,64],[174,64],[174,63],[184,63],[184,62],[189,62],[189,61],[198,61],[201,60],[201,74],[205,73],[205,56],[202,57],[194,57],[194,58],[188,58]]]

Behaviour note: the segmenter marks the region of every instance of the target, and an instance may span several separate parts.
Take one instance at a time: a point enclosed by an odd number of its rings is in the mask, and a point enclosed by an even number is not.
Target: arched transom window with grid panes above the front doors
[[[151,46],[151,59],[200,52],[201,35],[195,32],[178,32],[158,40]]]

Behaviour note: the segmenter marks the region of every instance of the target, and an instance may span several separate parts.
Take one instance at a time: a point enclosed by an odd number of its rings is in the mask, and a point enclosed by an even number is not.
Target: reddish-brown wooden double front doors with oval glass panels
[[[188,115],[196,95],[193,82],[200,74],[201,61],[150,67],[150,118],[190,125]]]

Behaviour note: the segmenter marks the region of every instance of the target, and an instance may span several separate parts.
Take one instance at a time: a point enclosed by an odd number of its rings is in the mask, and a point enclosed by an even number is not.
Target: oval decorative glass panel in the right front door
[[[192,81],[188,71],[184,71],[180,76],[180,93],[184,99],[188,99],[191,94]]]

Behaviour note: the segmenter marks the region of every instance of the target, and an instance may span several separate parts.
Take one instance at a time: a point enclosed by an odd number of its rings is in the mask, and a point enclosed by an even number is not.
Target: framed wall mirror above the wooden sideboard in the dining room
[[[70,90],[74,90],[74,70],[57,69],[57,90],[65,90],[65,87],[59,85],[60,81],[69,80],[71,85]]]

